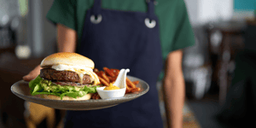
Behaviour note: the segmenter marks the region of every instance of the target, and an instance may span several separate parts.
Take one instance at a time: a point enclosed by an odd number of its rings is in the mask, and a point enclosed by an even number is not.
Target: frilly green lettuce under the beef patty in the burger
[[[96,87],[99,86],[84,86],[76,87],[71,85],[61,86],[60,84],[54,84],[49,80],[42,79],[38,75],[36,79],[29,82],[30,93],[32,96],[46,94],[60,96],[61,100],[63,96],[70,96],[73,98],[82,97],[88,93],[96,93]]]

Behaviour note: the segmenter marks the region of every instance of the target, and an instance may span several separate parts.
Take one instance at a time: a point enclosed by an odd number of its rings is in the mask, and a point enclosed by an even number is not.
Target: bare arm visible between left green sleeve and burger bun
[[[57,24],[57,44],[59,52],[75,52],[77,32],[73,29]]]

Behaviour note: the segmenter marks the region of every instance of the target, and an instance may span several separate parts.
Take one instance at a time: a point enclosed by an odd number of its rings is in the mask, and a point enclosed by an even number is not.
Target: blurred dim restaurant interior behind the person
[[[54,117],[51,124],[45,115],[32,119],[32,106],[10,91],[46,55],[57,51],[55,26],[45,18],[53,1],[0,0],[0,127],[61,127],[65,112],[42,108]],[[183,50],[183,127],[256,127],[256,1],[184,2],[195,46]],[[166,121],[160,84],[158,89]]]

